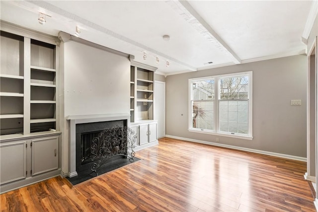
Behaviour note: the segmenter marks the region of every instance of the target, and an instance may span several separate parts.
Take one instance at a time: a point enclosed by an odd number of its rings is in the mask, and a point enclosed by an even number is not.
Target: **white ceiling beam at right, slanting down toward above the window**
[[[212,29],[212,27],[199,15],[199,13],[190,5],[190,3],[186,0],[179,0],[179,1],[174,1],[175,3],[178,2],[178,9],[186,10],[189,14],[192,15],[193,17],[191,19],[195,19],[197,21],[196,24],[200,24],[206,32],[203,34],[208,34],[211,38],[212,42],[216,43],[216,46],[222,46],[223,50],[225,50],[227,53],[229,53],[229,56],[232,57],[233,62],[235,64],[241,64],[241,60],[239,56],[228,46],[226,42],[222,40],[222,38]],[[202,27],[200,27],[202,29]]]

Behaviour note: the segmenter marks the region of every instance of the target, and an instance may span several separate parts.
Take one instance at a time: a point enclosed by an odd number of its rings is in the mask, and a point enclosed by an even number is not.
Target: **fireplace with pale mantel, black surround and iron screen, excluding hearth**
[[[69,177],[96,169],[114,155],[132,155],[130,114],[69,116]],[[128,137],[128,141],[127,141]],[[133,152],[134,155],[134,152]],[[97,174],[97,172],[96,172]]]

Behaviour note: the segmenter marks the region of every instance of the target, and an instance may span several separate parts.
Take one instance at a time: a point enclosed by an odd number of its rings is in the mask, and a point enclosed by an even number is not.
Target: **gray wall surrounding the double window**
[[[253,71],[253,140],[188,132],[188,79]],[[307,57],[188,72],[166,77],[166,135],[306,157]],[[301,99],[301,106],[291,106]]]

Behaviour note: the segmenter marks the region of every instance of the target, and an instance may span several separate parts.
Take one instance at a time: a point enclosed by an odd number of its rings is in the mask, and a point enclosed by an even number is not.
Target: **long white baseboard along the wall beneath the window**
[[[210,141],[188,139],[188,138],[182,138],[182,137],[170,136],[170,135],[166,135],[165,137],[171,138],[171,139],[179,139],[179,140],[184,140],[184,141],[204,143],[204,144],[213,145],[213,146],[232,148],[232,149],[237,149],[237,150],[242,150],[242,151],[248,151],[248,152],[253,152],[253,153],[259,153],[259,154],[265,154],[265,155],[270,155],[270,156],[283,157],[283,158],[287,158],[287,159],[307,162],[306,157],[299,157],[299,156],[294,156],[294,155],[289,155],[289,154],[281,154],[281,153],[277,153],[277,152],[263,151],[263,150],[258,150],[258,149],[251,149],[251,148],[233,146],[233,145],[228,145],[228,144],[223,144],[223,143],[215,143],[215,142],[210,142]]]

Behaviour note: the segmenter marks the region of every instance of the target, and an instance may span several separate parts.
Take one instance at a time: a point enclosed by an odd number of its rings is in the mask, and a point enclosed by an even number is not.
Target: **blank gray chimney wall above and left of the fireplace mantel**
[[[68,41],[61,44],[60,98],[64,111],[62,171],[69,172],[69,115],[129,113],[130,61],[91,46]]]

